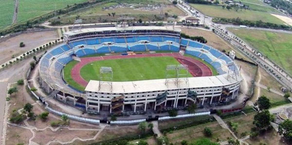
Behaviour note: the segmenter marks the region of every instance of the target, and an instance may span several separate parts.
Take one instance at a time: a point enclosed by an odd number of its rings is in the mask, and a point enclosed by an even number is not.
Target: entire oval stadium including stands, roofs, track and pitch
[[[242,78],[232,57],[180,33],[160,26],[66,32],[66,43],[41,58],[40,84],[49,97],[93,114],[159,113],[235,100]]]

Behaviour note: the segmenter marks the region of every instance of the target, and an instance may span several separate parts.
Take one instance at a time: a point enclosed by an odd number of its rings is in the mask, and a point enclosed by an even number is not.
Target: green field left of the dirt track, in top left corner
[[[14,13],[14,4],[15,1],[12,0],[1,0],[0,29],[11,25]]]

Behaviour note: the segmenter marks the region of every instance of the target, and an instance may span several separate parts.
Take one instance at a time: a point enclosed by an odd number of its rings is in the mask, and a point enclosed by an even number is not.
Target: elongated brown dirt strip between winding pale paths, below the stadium
[[[92,138],[95,136],[97,131],[79,131],[79,130],[69,130],[67,128],[60,128],[56,132],[51,129],[46,129],[44,131],[36,131],[36,137],[32,140],[38,144],[47,144],[50,140],[58,139],[60,141],[70,141],[78,136],[82,139]],[[78,134],[78,135],[77,135]]]

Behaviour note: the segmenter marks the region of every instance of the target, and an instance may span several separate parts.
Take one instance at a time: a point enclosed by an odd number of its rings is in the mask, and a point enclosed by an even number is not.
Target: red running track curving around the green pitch
[[[186,64],[188,66],[188,70],[190,74],[194,77],[199,76],[212,76],[211,69],[206,66],[204,63],[192,59],[190,57],[185,57],[180,55],[179,53],[155,53],[155,54],[135,54],[135,55],[111,55],[111,56],[100,56],[100,57],[86,57],[80,58],[81,62],[77,63],[73,69],[71,70],[71,76],[74,81],[79,83],[82,86],[87,85],[87,81],[84,80],[80,75],[81,68],[94,61],[105,60],[105,59],[123,59],[123,58],[139,58],[139,57],[163,57],[163,56],[170,56],[174,57],[178,62],[181,64]]]

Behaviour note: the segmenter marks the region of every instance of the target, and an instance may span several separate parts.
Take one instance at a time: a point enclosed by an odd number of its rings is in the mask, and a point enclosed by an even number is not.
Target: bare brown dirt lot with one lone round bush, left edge
[[[11,59],[12,55],[18,56],[48,41],[58,38],[57,31],[41,31],[23,33],[0,42],[0,64]],[[19,47],[20,42],[24,42],[25,47]]]

